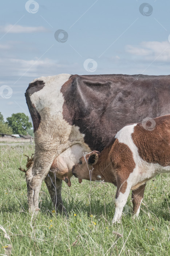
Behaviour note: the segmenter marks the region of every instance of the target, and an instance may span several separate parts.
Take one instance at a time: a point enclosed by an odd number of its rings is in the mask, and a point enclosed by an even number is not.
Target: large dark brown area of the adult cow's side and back
[[[122,127],[170,113],[170,76],[74,75],[62,87],[63,117],[101,151]]]

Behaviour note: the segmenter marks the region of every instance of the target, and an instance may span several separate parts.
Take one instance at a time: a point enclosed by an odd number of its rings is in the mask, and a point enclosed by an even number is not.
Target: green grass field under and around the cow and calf
[[[63,182],[68,217],[54,212],[45,183],[41,211],[28,213],[25,175],[18,170],[33,146],[0,146],[0,255],[12,245],[12,255],[170,255],[170,176],[150,180],[139,219],[131,218],[129,196],[120,224],[111,225],[116,188],[109,183],[72,178]],[[119,235],[121,234],[121,236]],[[9,236],[8,239],[6,238]],[[9,247],[9,246],[8,246]]]

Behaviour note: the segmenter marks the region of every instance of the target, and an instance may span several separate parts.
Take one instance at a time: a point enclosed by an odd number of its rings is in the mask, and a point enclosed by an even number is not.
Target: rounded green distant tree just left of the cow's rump
[[[7,124],[12,128],[13,133],[23,135],[27,135],[27,129],[32,127],[29,117],[24,113],[16,113],[7,117]]]

